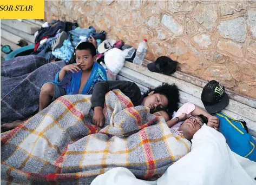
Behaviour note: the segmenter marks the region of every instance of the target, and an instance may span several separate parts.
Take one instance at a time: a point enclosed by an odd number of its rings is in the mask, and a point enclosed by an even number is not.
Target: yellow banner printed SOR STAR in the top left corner
[[[44,0],[1,0],[0,19],[43,19]]]

